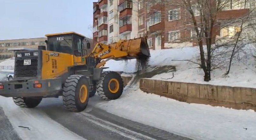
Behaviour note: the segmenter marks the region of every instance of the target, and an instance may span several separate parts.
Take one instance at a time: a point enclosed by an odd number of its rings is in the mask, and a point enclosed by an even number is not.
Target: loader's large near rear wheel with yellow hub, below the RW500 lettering
[[[80,92],[82,87],[85,86],[84,100],[81,101]],[[64,107],[71,112],[83,111],[89,101],[89,84],[87,78],[83,75],[71,75],[67,78],[62,93]]]

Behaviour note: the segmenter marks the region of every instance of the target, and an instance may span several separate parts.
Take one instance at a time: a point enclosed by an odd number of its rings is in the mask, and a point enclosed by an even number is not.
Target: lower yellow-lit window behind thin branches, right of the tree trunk
[[[231,38],[236,37],[241,32],[240,26],[229,26],[221,29],[221,37]]]

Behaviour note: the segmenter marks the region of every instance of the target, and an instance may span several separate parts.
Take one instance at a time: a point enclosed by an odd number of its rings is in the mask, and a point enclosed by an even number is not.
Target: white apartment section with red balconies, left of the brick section
[[[138,37],[136,0],[99,0],[93,3],[93,44],[111,44]]]

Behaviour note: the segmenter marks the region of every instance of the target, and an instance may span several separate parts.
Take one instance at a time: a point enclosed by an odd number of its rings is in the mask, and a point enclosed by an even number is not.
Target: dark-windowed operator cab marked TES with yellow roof
[[[59,53],[68,53],[75,56],[87,55],[91,48],[90,43],[85,36],[76,32],[63,32],[45,35],[48,40],[45,40],[48,51]]]

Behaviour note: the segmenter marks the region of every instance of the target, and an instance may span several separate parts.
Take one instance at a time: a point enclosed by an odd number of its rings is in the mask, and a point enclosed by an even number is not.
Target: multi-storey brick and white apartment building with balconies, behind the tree
[[[219,30],[221,21],[246,15],[250,11],[249,7],[245,8],[238,2],[231,1],[225,10],[218,13],[213,40],[240,31],[240,26],[235,25]],[[191,39],[196,35],[191,30],[193,26],[184,22],[187,17],[182,12],[185,9],[152,4],[147,0],[99,0],[93,3],[93,9],[94,44],[146,36],[150,49],[154,50],[197,46]],[[194,13],[200,14],[196,11]],[[184,32],[185,28],[189,30]]]

